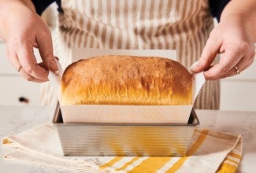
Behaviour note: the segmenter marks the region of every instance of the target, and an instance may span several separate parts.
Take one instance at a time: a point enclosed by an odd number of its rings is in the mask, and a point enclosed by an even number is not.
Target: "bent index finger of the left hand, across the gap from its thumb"
[[[20,44],[17,49],[17,57],[25,72],[32,75],[36,79],[43,81],[47,80],[48,72],[37,64],[33,52],[33,46],[30,43],[27,42]]]

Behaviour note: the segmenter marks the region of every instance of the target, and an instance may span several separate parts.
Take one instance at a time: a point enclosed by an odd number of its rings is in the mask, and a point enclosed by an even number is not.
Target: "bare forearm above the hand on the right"
[[[237,20],[240,22],[252,42],[256,42],[256,1],[232,0],[221,13],[221,22]]]

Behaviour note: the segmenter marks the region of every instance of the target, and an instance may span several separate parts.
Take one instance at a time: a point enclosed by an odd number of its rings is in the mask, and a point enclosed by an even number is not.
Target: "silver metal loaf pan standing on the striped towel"
[[[58,105],[53,124],[65,156],[186,156],[200,123],[63,123]]]

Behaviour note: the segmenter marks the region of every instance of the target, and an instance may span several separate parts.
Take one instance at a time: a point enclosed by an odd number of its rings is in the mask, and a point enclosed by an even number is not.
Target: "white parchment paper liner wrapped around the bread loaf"
[[[72,62],[101,55],[136,55],[167,57],[176,61],[175,50],[102,50],[75,49]],[[76,57],[76,58],[74,58]],[[61,76],[50,72],[49,80],[61,103]],[[201,73],[193,75],[193,103],[205,83]],[[193,105],[61,105],[64,123],[187,123]]]

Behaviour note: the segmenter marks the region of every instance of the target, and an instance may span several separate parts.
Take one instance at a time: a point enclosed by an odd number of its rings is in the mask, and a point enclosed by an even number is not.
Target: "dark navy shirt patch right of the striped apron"
[[[212,13],[213,17],[217,18],[218,22],[220,21],[221,13],[228,2],[230,2],[230,0],[209,0],[210,13]]]

